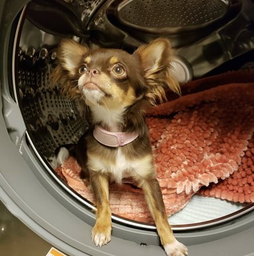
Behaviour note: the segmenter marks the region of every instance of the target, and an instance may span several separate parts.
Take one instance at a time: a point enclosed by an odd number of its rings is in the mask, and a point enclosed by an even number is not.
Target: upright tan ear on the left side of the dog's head
[[[82,57],[89,49],[72,39],[63,39],[58,47],[58,64],[70,75],[75,75]]]

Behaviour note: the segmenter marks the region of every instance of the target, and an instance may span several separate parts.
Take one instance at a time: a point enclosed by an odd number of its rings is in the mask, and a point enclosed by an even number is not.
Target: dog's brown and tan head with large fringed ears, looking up
[[[153,105],[165,98],[164,88],[179,93],[170,75],[171,56],[169,40],[163,38],[140,46],[133,54],[117,49],[89,50],[64,39],[53,79],[68,81],[64,90],[81,96],[89,106],[126,108],[137,101]]]

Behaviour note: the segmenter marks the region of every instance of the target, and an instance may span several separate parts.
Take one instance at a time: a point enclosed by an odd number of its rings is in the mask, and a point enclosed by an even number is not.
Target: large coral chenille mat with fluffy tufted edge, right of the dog
[[[238,170],[254,130],[253,92],[253,84],[229,84],[150,112],[148,126],[162,188],[169,184],[177,194],[190,194]],[[162,133],[158,127],[163,127]]]

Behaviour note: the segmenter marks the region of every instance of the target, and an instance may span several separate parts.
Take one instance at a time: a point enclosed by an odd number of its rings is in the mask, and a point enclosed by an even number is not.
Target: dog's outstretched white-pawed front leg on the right
[[[158,236],[161,238],[165,252],[168,256],[185,256],[188,255],[186,246],[178,242],[173,235],[171,226],[167,219],[165,204],[161,194],[161,188],[155,177],[142,179],[140,187],[144,191],[146,202],[154,219]]]

